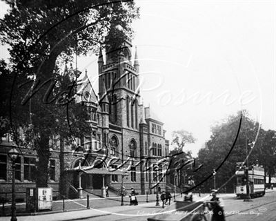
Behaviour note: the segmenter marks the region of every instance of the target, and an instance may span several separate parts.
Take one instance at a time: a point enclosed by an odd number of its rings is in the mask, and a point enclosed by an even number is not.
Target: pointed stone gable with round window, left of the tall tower
[[[98,105],[97,95],[92,88],[92,84],[88,78],[87,70],[83,79],[77,81],[77,102],[85,102],[92,104],[93,106]]]

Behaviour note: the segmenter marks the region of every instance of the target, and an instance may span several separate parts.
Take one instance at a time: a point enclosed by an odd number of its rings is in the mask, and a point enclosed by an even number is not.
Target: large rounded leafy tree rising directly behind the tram
[[[246,111],[242,111],[241,129],[237,134],[240,119],[241,113],[238,113],[211,128],[210,140],[199,150],[198,159],[203,166],[195,175],[197,183],[212,174],[213,169],[219,168],[216,173],[216,187],[226,187],[228,191],[233,191],[236,163],[246,163],[246,156],[248,165],[258,163],[258,152],[264,144],[265,131],[259,128],[258,122],[248,117]],[[237,142],[233,146],[235,139]],[[222,162],[224,163],[221,165]],[[209,179],[203,184],[203,188],[208,191],[213,189],[213,185],[213,179]]]

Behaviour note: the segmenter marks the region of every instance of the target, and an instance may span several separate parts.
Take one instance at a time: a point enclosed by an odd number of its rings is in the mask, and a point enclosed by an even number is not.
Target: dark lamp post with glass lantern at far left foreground
[[[12,160],[12,217],[10,220],[17,221],[17,207],[15,204],[15,160],[17,160],[19,152],[17,151],[16,144],[12,144],[12,149],[8,152],[8,155]]]

